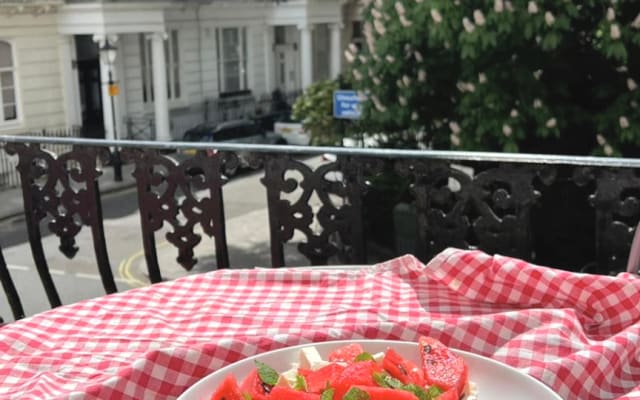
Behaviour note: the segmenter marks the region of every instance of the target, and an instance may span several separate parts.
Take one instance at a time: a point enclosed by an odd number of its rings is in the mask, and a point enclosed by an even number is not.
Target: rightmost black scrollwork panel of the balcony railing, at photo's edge
[[[630,243],[640,221],[640,176],[630,168],[578,167],[574,176],[586,185],[595,182],[589,203],[596,210],[596,254],[593,270],[615,273],[625,269]]]

